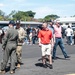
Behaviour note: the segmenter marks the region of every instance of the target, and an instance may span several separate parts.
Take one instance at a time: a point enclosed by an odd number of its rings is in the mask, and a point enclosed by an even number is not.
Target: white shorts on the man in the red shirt
[[[42,44],[41,45],[41,51],[42,51],[42,56],[45,56],[45,55],[52,55],[51,52],[51,44],[47,44],[47,45],[44,45]]]

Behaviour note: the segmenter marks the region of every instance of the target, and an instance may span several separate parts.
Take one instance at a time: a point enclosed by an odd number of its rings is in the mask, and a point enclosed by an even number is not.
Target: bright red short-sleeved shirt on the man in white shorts
[[[51,30],[40,30],[38,33],[38,37],[41,39],[42,44],[49,44],[51,43],[50,40],[52,38],[52,31]]]

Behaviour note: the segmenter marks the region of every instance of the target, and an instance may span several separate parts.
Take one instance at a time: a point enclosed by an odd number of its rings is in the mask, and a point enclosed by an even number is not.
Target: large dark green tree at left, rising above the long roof
[[[29,21],[34,18],[35,13],[32,11],[18,11],[14,15],[12,15],[15,20]]]

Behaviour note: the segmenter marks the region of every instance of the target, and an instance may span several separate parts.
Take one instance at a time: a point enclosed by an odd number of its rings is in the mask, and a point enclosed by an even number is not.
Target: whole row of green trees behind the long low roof
[[[21,20],[21,21],[39,21],[39,22],[44,22],[44,21],[50,21],[50,20],[55,20],[59,16],[57,15],[47,15],[44,18],[39,18],[39,19],[34,19],[35,12],[30,11],[11,11],[10,14],[5,15],[5,13],[0,10],[0,20]],[[75,17],[75,15],[74,15]]]

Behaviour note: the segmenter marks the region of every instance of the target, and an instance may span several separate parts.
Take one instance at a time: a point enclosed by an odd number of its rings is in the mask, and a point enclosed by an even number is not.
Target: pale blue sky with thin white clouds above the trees
[[[34,18],[55,14],[60,17],[75,15],[75,0],[0,0],[0,10],[6,14],[16,11],[36,12]]]

